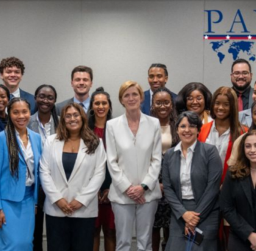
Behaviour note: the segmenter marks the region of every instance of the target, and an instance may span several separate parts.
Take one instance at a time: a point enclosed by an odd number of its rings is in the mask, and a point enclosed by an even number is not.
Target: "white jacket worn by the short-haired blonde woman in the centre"
[[[160,123],[141,112],[136,137],[129,128],[125,114],[107,121],[107,167],[112,184],[109,199],[119,204],[132,204],[125,191],[131,185],[146,184],[146,202],[162,197],[158,175],[161,168],[162,144]]]

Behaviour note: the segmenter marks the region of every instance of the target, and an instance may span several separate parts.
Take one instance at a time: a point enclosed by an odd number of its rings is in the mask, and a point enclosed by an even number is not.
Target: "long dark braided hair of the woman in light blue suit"
[[[9,120],[7,121],[7,125],[4,129],[5,135],[7,138],[7,148],[9,153],[9,166],[10,172],[12,176],[18,178],[18,164],[19,164],[19,153],[22,156],[21,148],[18,145],[18,139],[15,133],[15,126],[13,125],[12,118],[10,117],[10,112],[13,108],[13,104],[17,102],[25,102],[30,111],[30,104],[24,98],[13,98],[7,105],[7,113],[9,114]]]

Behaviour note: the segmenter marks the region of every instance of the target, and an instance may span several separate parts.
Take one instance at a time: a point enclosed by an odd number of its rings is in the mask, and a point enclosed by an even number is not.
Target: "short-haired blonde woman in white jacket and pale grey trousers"
[[[119,90],[125,114],[107,121],[107,166],[112,177],[109,199],[115,214],[116,250],[131,247],[135,221],[138,250],[152,250],[152,227],[161,167],[160,123],[141,112],[143,90],[127,81]]]

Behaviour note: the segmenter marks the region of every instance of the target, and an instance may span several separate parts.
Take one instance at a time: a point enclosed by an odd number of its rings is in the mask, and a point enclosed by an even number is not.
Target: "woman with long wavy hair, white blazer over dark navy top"
[[[93,250],[105,161],[102,140],[88,127],[82,106],[66,105],[40,160],[48,251]]]

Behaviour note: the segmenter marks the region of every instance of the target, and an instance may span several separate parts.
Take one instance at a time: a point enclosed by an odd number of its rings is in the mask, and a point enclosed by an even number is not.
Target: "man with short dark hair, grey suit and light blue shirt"
[[[90,87],[93,85],[93,70],[87,66],[79,65],[72,70],[71,87],[74,90],[74,98],[69,98],[61,103],[57,103],[56,112],[60,116],[61,110],[67,103],[79,103],[88,112],[90,105]]]

